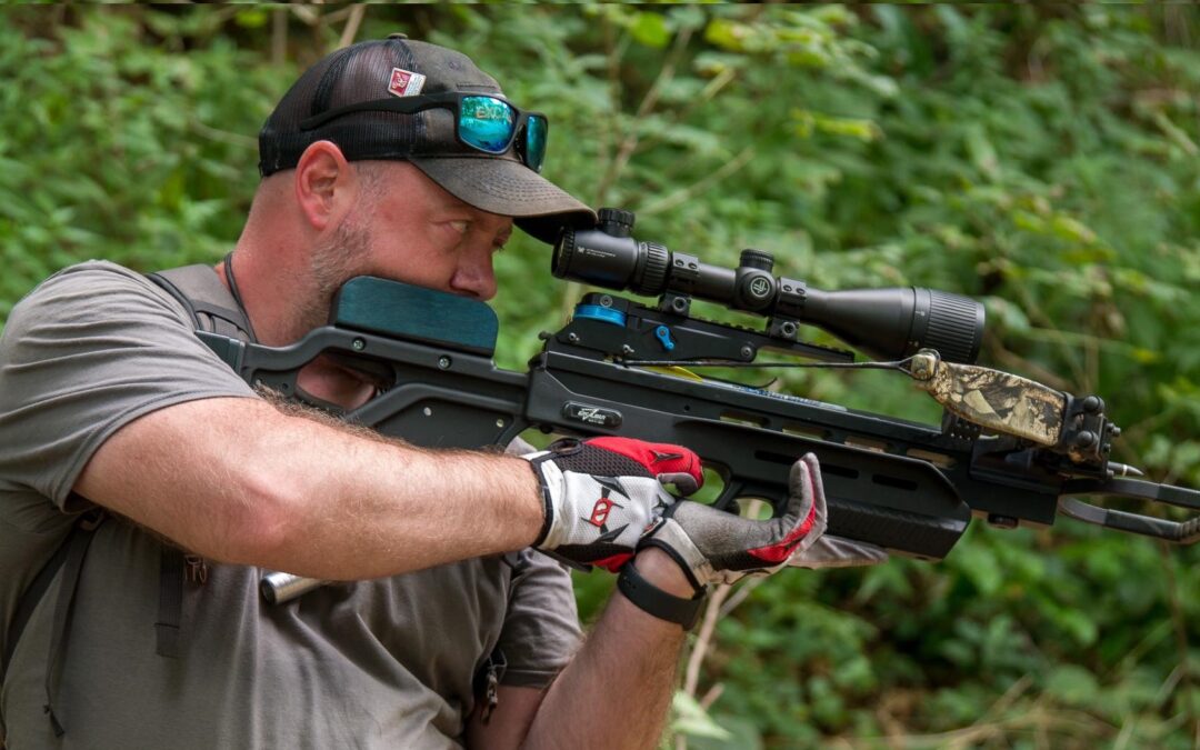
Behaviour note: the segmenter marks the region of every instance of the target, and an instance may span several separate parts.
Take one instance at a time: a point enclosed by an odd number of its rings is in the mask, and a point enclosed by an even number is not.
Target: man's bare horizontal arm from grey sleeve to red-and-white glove
[[[248,398],[126,425],[76,490],[198,554],[337,580],[517,550],[544,520],[517,458],[420,450]]]

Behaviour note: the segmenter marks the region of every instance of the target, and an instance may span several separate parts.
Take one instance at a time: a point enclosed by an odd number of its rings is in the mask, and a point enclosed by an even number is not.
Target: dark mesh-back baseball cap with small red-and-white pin
[[[554,242],[559,228],[592,227],[595,212],[522,163],[516,145],[485,154],[455,136],[455,113],[353,112],[304,130],[316,115],[395,96],[470,92],[504,97],[496,79],[467,55],[394,34],[344,47],[310,67],[283,95],[258,133],[263,176],[293,169],[318,140],[349,161],[402,160],[476,209],[512,216],[534,238]]]

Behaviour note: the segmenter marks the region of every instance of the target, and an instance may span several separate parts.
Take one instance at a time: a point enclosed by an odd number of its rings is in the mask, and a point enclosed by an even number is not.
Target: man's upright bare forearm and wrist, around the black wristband
[[[637,568],[654,586],[692,595],[666,553],[644,550]],[[526,748],[654,748],[662,734],[686,634],[614,592],[604,614],[538,709]]]

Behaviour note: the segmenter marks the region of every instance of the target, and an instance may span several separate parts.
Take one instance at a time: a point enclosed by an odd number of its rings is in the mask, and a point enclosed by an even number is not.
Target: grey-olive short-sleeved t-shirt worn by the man
[[[84,263],[17,305],[0,337],[0,653],[22,592],[89,509],[71,488],[96,449],[155,409],[230,396],[257,397],[139,274]],[[160,553],[119,518],[95,533],[53,696],[60,738],[43,713],[49,587],[0,674],[10,750],[452,748],[497,646],[503,684],[544,686],[578,643],[569,576],[526,550],[280,606],[259,595],[259,569],[210,564],[184,586],[169,659],[155,653]]]

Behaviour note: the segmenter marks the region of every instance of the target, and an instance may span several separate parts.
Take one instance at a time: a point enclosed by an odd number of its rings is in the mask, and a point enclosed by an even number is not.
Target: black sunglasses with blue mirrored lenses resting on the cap
[[[517,156],[521,157],[521,163],[534,172],[541,172],[541,162],[546,157],[546,134],[550,131],[550,121],[546,115],[538,112],[522,112],[496,96],[452,91],[372,100],[311,116],[300,122],[300,130],[314,130],[330,120],[355,112],[416,114],[426,109],[452,110],[455,113],[455,136],[458,142],[485,154],[504,154],[516,142],[516,151]]]

